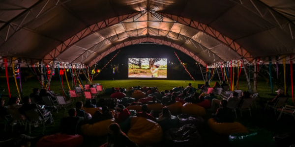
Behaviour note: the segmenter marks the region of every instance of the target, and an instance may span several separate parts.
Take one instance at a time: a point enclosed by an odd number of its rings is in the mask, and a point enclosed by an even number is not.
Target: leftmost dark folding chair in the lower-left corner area
[[[26,117],[18,111],[18,108],[9,108],[7,109],[8,114],[12,117],[12,131],[14,124],[20,123],[21,125],[25,125],[25,130],[27,130],[27,121]],[[25,124],[26,123],[26,124]]]

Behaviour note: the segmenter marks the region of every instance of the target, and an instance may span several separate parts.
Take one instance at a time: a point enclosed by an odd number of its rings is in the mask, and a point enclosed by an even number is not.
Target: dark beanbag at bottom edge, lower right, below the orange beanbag
[[[229,141],[233,147],[275,147],[272,136],[266,132],[231,134]]]

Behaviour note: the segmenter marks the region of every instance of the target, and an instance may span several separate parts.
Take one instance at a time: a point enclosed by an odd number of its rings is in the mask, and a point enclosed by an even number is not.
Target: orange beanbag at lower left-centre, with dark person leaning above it
[[[115,123],[115,119],[104,120],[93,124],[84,124],[81,131],[84,136],[100,137],[108,134],[109,125]]]

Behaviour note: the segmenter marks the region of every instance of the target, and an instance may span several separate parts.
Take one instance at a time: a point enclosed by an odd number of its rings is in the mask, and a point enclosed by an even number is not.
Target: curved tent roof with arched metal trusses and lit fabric
[[[2,0],[0,55],[93,65],[152,42],[201,64],[295,53],[293,0]]]

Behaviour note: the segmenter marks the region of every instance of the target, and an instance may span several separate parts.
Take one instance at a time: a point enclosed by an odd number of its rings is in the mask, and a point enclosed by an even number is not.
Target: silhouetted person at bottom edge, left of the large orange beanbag
[[[108,147],[138,147],[125,133],[121,131],[118,123],[109,126]]]

